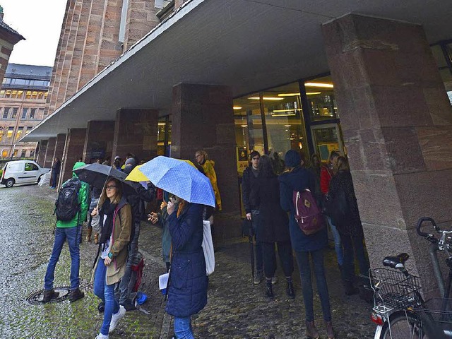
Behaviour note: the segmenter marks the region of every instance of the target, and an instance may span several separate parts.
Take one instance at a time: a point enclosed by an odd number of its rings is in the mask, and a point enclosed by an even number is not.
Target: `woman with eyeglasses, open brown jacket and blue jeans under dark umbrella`
[[[94,208],[93,229],[100,233],[100,258],[94,275],[94,294],[105,303],[104,321],[96,339],[108,339],[126,309],[114,299],[114,285],[126,270],[132,213],[131,206],[122,196],[121,182],[109,179],[100,196],[99,206]]]

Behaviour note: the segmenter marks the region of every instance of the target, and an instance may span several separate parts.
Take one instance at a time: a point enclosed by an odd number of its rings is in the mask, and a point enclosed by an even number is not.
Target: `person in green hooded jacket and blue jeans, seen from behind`
[[[85,162],[78,161],[73,165],[74,171],[78,167],[85,165]],[[73,173],[72,177],[77,177],[77,174]],[[67,181],[69,182],[69,180]],[[62,187],[67,184],[64,182]],[[44,297],[43,302],[49,302],[52,299],[59,297],[59,293],[55,292],[54,273],[55,266],[59,260],[61,249],[65,241],[69,245],[69,253],[71,254],[71,295],[69,299],[71,302],[75,302],[78,299],[85,297],[85,294],[79,288],[78,272],[80,270],[80,233],[81,225],[86,220],[86,213],[88,212],[88,190],[89,186],[85,182],[81,182],[80,190],[78,191],[78,203],[80,204],[80,211],[74,218],[69,221],[57,220],[57,227],[55,228],[55,240],[54,247],[52,249],[52,255],[50,256],[49,264],[44,278]]]

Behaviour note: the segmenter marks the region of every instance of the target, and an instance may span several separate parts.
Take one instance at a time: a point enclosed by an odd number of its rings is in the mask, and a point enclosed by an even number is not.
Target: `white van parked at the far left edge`
[[[8,161],[1,174],[0,184],[6,187],[12,187],[13,184],[37,184],[42,174],[49,171],[49,168],[42,168],[32,160]]]

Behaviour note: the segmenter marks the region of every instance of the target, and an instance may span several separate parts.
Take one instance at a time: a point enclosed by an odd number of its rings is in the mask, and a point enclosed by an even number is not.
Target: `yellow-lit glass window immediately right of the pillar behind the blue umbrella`
[[[283,172],[287,150],[309,155],[298,83],[234,100],[234,118],[239,172],[252,150],[268,153],[277,173]]]

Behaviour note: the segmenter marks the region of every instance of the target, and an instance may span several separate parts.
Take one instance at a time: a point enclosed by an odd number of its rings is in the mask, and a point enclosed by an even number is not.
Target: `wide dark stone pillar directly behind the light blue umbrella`
[[[239,236],[239,185],[232,93],[226,86],[182,83],[173,88],[171,155],[194,161],[203,149],[215,161],[222,212],[215,215],[215,237]]]

